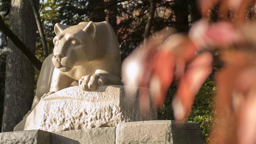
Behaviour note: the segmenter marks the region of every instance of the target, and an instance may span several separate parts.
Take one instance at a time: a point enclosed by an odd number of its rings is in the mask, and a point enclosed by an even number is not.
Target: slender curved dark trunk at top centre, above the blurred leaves
[[[149,0],[150,1],[150,10],[149,10],[149,17],[147,20],[147,24],[145,26],[145,33],[144,33],[144,44],[146,43],[147,37],[150,35],[150,30],[152,27],[155,10],[156,10],[156,0]]]

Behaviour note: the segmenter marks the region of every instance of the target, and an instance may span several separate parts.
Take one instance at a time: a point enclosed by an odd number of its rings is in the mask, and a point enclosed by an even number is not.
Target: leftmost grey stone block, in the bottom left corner
[[[0,143],[17,144],[50,144],[51,135],[41,130],[3,132],[0,133]]]

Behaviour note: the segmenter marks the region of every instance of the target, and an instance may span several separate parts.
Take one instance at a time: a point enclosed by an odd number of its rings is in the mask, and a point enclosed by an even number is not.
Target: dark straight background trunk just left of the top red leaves
[[[176,29],[178,32],[188,32],[188,0],[174,0]]]

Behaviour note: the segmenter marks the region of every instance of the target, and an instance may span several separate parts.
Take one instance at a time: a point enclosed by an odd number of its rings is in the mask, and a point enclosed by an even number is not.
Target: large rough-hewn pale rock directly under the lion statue
[[[24,130],[58,132],[156,120],[149,89],[140,88],[138,93],[125,94],[124,86],[100,86],[96,91],[66,88],[41,99],[28,115]]]

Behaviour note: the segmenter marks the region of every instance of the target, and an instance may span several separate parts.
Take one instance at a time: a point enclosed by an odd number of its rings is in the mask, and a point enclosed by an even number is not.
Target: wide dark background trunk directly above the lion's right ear
[[[99,10],[94,10],[90,12],[90,21],[93,22],[102,22],[105,21],[106,14],[105,10],[101,9],[104,5],[99,5],[99,4],[104,4],[104,0],[89,0],[88,7],[89,9],[99,9]]]

